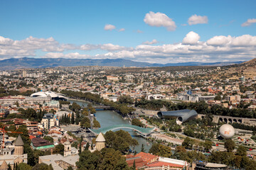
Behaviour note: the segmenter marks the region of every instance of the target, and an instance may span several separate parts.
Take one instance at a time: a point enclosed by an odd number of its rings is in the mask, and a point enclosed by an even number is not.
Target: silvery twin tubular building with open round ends
[[[176,123],[181,125],[187,120],[196,118],[198,113],[194,110],[184,109],[180,111],[159,111],[157,116],[159,118],[176,118]]]

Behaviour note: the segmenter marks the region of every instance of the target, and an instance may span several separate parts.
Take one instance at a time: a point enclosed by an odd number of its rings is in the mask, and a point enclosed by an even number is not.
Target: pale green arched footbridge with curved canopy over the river
[[[89,129],[90,132],[94,133],[95,135],[98,135],[100,132],[105,134],[107,131],[110,130],[117,130],[117,129],[131,129],[135,130],[139,135],[142,135],[143,137],[146,137],[149,135],[151,132],[153,132],[154,128],[142,128],[136,125],[111,125],[105,128],[100,128],[97,130]]]

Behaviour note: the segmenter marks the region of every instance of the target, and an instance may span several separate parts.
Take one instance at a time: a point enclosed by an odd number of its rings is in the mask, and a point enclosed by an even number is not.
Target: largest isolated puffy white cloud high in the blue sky
[[[176,30],[176,24],[175,22],[166,16],[164,13],[154,13],[150,11],[149,13],[146,13],[146,16],[144,18],[144,22],[148,24],[149,26],[156,26],[156,27],[166,27],[167,30]]]

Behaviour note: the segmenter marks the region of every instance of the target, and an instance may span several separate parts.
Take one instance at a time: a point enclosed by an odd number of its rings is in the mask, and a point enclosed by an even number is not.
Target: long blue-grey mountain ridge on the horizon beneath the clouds
[[[224,66],[229,64],[240,64],[240,62],[180,62],[167,64],[151,64],[148,62],[134,62],[125,59],[65,59],[65,58],[11,58],[0,60],[1,70],[46,68],[46,67],[75,67],[75,66],[110,66],[110,67],[169,67],[169,66]]]

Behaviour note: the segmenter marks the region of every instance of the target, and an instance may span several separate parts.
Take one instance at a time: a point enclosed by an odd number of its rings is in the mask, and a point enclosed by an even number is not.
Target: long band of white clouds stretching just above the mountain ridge
[[[47,51],[48,53],[43,57],[48,58],[124,58],[164,64],[168,62],[220,62],[223,59],[227,61],[250,60],[256,56],[256,36],[218,35],[205,42],[199,42],[199,40],[200,36],[191,31],[183,42],[153,45],[156,40],[152,40],[132,48],[111,43],[80,46],[60,44],[53,38],[29,37],[24,40],[11,40],[0,37],[0,60],[13,57],[36,57],[36,52],[39,50]],[[68,50],[72,52],[68,53]],[[85,54],[88,50],[99,50],[99,54]]]

